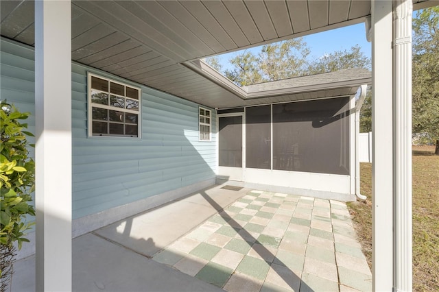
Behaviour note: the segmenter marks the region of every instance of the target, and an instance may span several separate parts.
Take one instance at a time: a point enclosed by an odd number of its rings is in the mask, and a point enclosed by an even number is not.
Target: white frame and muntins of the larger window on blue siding
[[[92,88],[92,77],[97,77],[101,80],[106,80],[108,82],[108,91],[103,91],[103,90],[99,90],[97,88]],[[123,90],[124,93],[123,95],[118,95],[115,93],[110,93],[110,82],[113,84],[118,84],[120,86],[123,86]],[[87,118],[88,118],[88,137],[118,137],[118,138],[135,138],[135,139],[139,139],[141,138],[141,88],[137,87],[137,86],[132,86],[131,84],[126,84],[123,82],[119,82],[117,80],[112,80],[111,78],[108,77],[104,77],[102,75],[97,75],[95,73],[88,73],[87,76],[87,109],[88,109],[88,114],[87,114]],[[131,98],[127,96],[127,90],[126,88],[132,88],[137,90],[138,96],[137,99]],[[93,92],[98,92],[98,93],[106,93],[108,94],[108,104],[96,104],[92,102],[92,90]],[[112,95],[113,97],[119,97],[119,98],[123,98],[124,99],[124,104],[126,105],[126,101],[128,100],[137,100],[139,102],[139,106],[137,108],[137,110],[133,110],[133,109],[128,109],[128,108],[120,108],[117,106],[111,106],[110,105],[110,100],[111,97],[110,95]],[[129,123],[126,120],[122,121],[122,122],[110,122],[110,120],[107,119],[106,120],[102,120],[102,122],[106,122],[108,124],[108,133],[107,134],[93,134],[93,108],[100,108],[100,109],[104,109],[104,110],[117,110],[119,112],[123,112],[124,114],[128,113],[128,114],[137,114],[137,135],[134,134],[109,134],[109,127],[110,127],[110,123],[117,123],[117,124],[121,124],[123,125],[123,132],[126,131],[126,125],[135,125],[134,123]],[[98,120],[95,120],[98,121]]]

